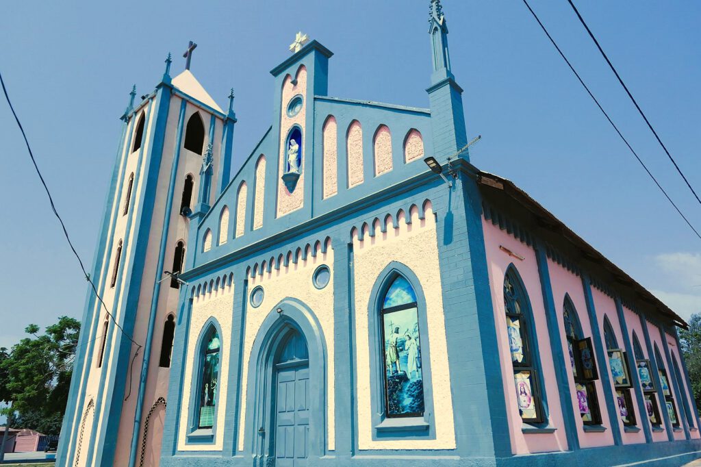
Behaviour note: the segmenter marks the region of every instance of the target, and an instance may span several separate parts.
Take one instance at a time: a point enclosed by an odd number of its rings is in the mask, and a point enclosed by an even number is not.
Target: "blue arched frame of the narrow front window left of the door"
[[[217,362],[217,399],[215,400],[215,412],[212,419],[212,426],[200,426],[200,395],[203,391],[203,376],[205,370],[205,356],[207,355],[207,344],[212,337],[212,334],[217,334],[219,337],[219,361]],[[224,356],[224,341],[222,340],[222,328],[215,318],[210,318],[203,325],[200,336],[196,343],[197,356],[194,370],[192,373],[193,380],[191,384],[190,395],[190,413],[189,413],[189,440],[198,442],[212,442],[217,431],[219,412],[219,400],[222,391],[222,358]]]

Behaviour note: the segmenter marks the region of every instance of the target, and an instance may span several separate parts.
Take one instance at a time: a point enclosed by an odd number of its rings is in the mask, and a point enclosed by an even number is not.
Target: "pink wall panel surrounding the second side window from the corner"
[[[569,355],[569,348],[567,346],[567,339],[565,337],[564,320],[562,319],[562,311],[564,307],[565,295],[569,294],[572,304],[577,310],[577,316],[579,317],[580,324],[582,325],[583,337],[592,337],[592,324],[589,319],[589,313],[587,312],[587,302],[585,302],[584,289],[582,284],[582,279],[574,273],[571,273],[564,267],[560,266],[551,259],[547,260],[547,267],[550,271],[550,283],[552,285],[552,296],[555,302],[555,309],[558,313],[557,325],[560,330],[560,336],[562,337],[562,351],[564,355]],[[567,359],[566,359],[567,360]],[[594,386],[597,388],[597,397],[599,399],[599,411],[601,412],[601,424],[603,426],[609,427],[604,433],[587,433],[584,431],[584,424],[579,414],[579,402],[577,400],[577,395],[575,393],[575,382],[574,375],[572,372],[572,367],[569,362],[566,362],[567,375],[569,379],[569,386],[571,388],[571,400],[572,406],[574,407],[576,424],[577,424],[577,434],[579,437],[579,443],[581,447],[597,447],[597,446],[608,446],[613,445],[613,433],[611,433],[609,417],[608,417],[608,407],[606,407],[606,398],[604,397],[604,387],[601,385],[601,377],[597,381],[594,381]],[[597,367],[599,370],[599,375],[602,372],[608,371],[607,362],[597,361]]]

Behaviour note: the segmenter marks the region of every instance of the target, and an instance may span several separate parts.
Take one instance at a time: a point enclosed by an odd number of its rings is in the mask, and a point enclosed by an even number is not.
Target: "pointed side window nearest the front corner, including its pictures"
[[[514,371],[516,402],[521,419],[531,423],[545,421],[540,399],[540,378],[531,350],[532,313],[521,279],[510,266],[504,277],[504,309],[509,338],[509,351]]]

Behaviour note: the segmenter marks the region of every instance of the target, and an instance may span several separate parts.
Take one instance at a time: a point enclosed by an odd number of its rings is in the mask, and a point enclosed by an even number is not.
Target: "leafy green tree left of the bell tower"
[[[31,337],[9,353],[0,349],[0,399],[12,401],[12,410],[18,413],[15,426],[46,435],[61,430],[80,328],[78,320],[61,316],[41,335],[39,326],[27,326]]]

